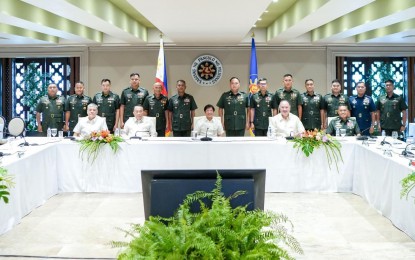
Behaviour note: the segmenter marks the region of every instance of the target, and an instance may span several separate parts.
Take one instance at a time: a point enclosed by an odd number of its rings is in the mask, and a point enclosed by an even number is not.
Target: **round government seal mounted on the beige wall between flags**
[[[215,56],[201,55],[193,61],[190,73],[197,84],[209,87],[218,83],[222,78],[223,66]]]

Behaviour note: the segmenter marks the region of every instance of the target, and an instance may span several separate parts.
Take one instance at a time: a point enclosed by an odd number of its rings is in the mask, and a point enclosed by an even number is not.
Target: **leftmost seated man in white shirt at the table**
[[[92,132],[98,132],[102,130],[108,130],[105,118],[97,116],[98,106],[91,103],[87,107],[86,117],[80,117],[78,123],[73,129],[74,136],[87,137]]]

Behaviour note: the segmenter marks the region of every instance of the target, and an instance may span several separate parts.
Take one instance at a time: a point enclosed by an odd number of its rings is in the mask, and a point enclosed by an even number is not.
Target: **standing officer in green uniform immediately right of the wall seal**
[[[239,91],[239,79],[230,79],[230,91],[224,92],[218,103],[219,116],[226,136],[244,136],[245,129],[249,129],[249,97]]]

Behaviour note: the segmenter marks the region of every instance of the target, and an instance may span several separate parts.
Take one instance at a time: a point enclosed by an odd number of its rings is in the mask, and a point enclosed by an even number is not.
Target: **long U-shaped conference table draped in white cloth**
[[[400,181],[414,170],[399,155],[385,157],[379,144],[342,139],[343,162],[329,167],[324,149],[310,157],[285,139],[190,138],[128,140],[118,153],[105,147],[91,164],[79,155],[79,144],[67,139],[27,138],[23,156],[17,146],[0,146],[2,166],[14,176],[10,202],[0,202],[0,235],[50,197],[64,192],[141,192],[142,170],[266,169],[266,192],[348,192],[361,196],[412,239],[415,203],[400,199]],[[379,143],[380,140],[378,140]],[[18,142],[18,141],[15,141]],[[17,150],[17,151],[16,151]],[[414,195],[414,194],[412,194]]]

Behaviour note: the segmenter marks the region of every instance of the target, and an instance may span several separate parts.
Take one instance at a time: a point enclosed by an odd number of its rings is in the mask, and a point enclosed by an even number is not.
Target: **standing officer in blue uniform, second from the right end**
[[[365,95],[366,86],[363,81],[356,84],[357,95],[349,97],[352,107],[351,116],[356,117],[362,135],[373,134],[376,123],[376,106],[372,97]]]

